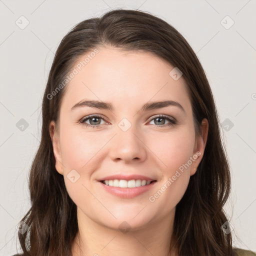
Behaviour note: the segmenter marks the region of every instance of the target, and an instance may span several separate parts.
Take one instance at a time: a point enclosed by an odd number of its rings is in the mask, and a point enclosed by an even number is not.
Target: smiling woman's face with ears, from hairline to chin
[[[80,62],[88,54],[77,60],[77,73],[72,68],[75,74],[61,101],[59,132],[50,124],[55,166],[79,216],[109,228],[127,225],[134,230],[174,216],[202,158],[207,122],[204,136],[195,137],[184,79],[157,56],[100,48],[86,64]],[[76,105],[85,100],[97,101],[98,107]],[[158,101],[170,104],[152,104]],[[107,177],[115,175],[123,176]],[[101,182],[106,177],[117,180],[107,186]],[[137,179],[156,181],[139,186]],[[115,186],[126,184],[138,186]]]

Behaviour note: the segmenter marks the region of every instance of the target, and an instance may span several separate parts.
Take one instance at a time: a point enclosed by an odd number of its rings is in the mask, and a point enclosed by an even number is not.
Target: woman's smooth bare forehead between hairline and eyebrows
[[[70,109],[83,98],[112,102],[118,109],[159,99],[190,107],[185,81],[182,76],[178,80],[170,76],[174,66],[167,61],[150,52],[110,47],[98,48],[93,57],[90,52],[71,68],[76,74],[66,85],[64,108]]]

